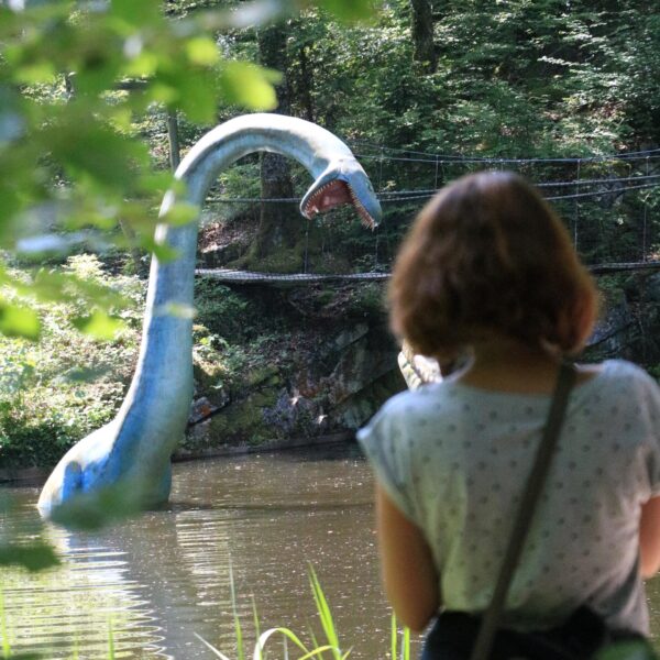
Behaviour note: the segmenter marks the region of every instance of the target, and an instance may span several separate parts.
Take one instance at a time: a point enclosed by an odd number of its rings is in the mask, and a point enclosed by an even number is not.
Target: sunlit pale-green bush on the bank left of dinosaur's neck
[[[87,433],[112,419],[133,373],[140,342],[144,283],[109,275],[98,257],[69,257],[66,270],[89,285],[105,284],[129,305],[112,341],[80,334],[88,302],[37,302],[38,343],[0,337],[0,466],[52,465]],[[54,272],[55,273],[55,272]],[[20,275],[20,273],[15,273]]]

